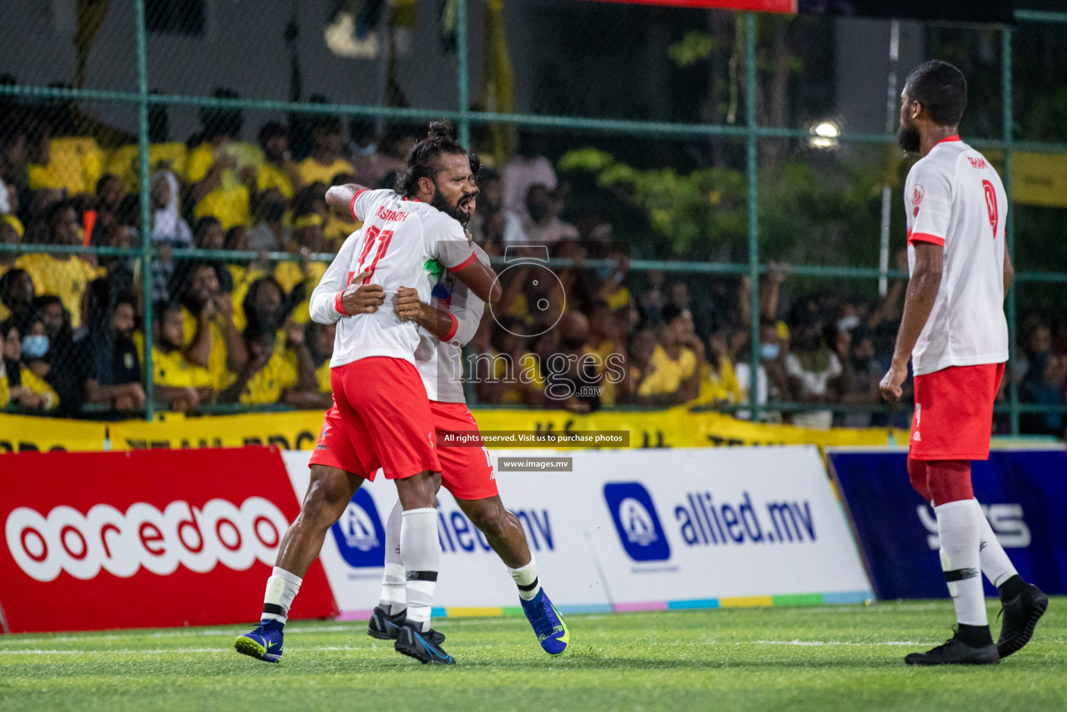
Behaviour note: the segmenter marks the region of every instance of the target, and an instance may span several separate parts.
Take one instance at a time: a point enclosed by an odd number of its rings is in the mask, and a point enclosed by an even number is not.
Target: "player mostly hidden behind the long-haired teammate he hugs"
[[[477,175],[477,158],[472,160]],[[464,207],[461,224],[474,215],[475,200]],[[467,233],[469,239],[469,233]],[[472,241],[478,259],[489,268],[489,255]],[[432,291],[432,302],[419,298],[417,290],[401,287],[394,312],[415,321],[421,341],[415,351],[415,365],[430,398],[430,411],[437,433],[477,434],[478,423],[463,397],[463,346],[478,330],[485,302],[447,270]],[[479,439],[480,441],[480,439]],[[504,508],[496,488],[496,477],[489,450],[480,446],[441,446],[441,484],[460,509],[485,535],[519,588],[519,599],[541,648],[551,655],[561,654],[570,644],[567,622],[541,588],[537,561],[529,550],[519,519]],[[400,529],[402,509],[398,502],[385,524],[385,573],[381,602],[367,624],[367,634],[376,638],[396,638],[407,619],[407,586],[401,560]]]

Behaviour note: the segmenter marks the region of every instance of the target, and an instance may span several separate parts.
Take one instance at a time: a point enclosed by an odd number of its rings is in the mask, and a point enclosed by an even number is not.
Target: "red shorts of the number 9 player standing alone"
[[[993,401],[1003,363],[949,366],[915,376],[915,416],[908,457],[915,460],[987,460]]]

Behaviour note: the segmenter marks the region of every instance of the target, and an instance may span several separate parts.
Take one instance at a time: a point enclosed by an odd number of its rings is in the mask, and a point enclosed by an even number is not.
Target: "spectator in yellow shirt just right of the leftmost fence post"
[[[181,307],[160,303],[155,315],[156,338],[152,345],[155,396],[176,413],[196,410],[213,396],[211,374],[207,368],[190,363],[182,352],[186,338]],[[143,339],[139,347],[143,353]]]

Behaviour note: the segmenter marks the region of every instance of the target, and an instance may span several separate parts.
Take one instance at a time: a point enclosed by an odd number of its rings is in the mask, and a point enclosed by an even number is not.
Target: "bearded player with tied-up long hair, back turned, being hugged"
[[[441,463],[426,387],[415,368],[418,326],[401,321],[392,302],[407,285],[429,300],[436,281],[426,270],[431,263],[450,270],[480,299],[499,298],[496,275],[475,257],[458,222],[476,192],[466,151],[444,123],[430,124],[395,190],[340,186],[327,192],[329,204],[345,205],[364,223],[341,246],[310,299],[315,321],[337,325],[330,362],[334,405],[310,458],[310,484],[300,516],[283,537],[267,581],[260,623],[237,638],[239,652],[270,662],[282,658],[289,606],[327,531],[364,479],[373,480],[381,469],[396,481],[402,508],[400,556],[408,611],[396,650],[424,663],[455,664],[441,647],[443,636],[430,626],[441,555]],[[388,308],[368,306],[359,294],[362,284],[371,282]]]

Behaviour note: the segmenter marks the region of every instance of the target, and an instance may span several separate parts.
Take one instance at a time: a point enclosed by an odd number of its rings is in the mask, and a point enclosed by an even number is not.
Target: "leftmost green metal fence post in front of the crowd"
[[[149,204],[148,176],[148,50],[145,41],[144,0],[133,1],[133,17],[137,25],[137,89],[140,99],[138,115],[138,153],[141,173],[141,283],[144,288],[144,410],[145,418],[155,416],[153,402],[152,368],[152,206]]]

